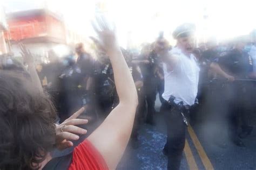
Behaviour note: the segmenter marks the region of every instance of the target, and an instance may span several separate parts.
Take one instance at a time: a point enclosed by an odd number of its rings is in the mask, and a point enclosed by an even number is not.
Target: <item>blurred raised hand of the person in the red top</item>
[[[110,28],[104,16],[96,17],[96,22],[92,22],[92,26],[98,34],[98,40],[95,38],[91,39],[97,42],[98,46],[104,49],[106,53],[118,47],[116,31]]]

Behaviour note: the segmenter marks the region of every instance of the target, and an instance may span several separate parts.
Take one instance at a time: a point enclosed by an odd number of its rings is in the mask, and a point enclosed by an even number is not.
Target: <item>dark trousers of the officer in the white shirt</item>
[[[180,162],[185,146],[186,125],[180,111],[165,102],[162,105],[167,126],[167,142],[164,150],[168,154],[167,169],[176,170],[180,167]]]

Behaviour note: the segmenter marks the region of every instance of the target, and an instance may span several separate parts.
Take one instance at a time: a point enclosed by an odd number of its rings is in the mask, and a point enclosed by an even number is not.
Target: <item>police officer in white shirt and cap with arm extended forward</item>
[[[183,24],[173,32],[177,46],[171,51],[159,49],[164,62],[165,87],[163,109],[167,125],[167,143],[164,153],[168,156],[167,169],[179,169],[185,146],[186,115],[195,103],[198,91],[199,67],[195,56],[193,24]]]

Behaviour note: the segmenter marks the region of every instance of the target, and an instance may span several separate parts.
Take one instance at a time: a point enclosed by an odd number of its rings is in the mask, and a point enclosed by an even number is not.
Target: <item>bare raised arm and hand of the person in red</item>
[[[103,18],[93,24],[99,42],[110,57],[119,104],[88,138],[102,154],[109,169],[115,169],[130,139],[138,96],[132,75],[117,43],[114,31]]]

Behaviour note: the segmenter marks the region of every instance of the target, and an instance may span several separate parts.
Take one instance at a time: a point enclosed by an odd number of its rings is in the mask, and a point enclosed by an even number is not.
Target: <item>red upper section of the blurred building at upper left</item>
[[[51,37],[65,41],[65,27],[62,20],[44,10],[11,14],[8,18],[8,25],[10,39],[14,41],[39,37]],[[8,37],[8,33],[5,32],[5,38]]]

